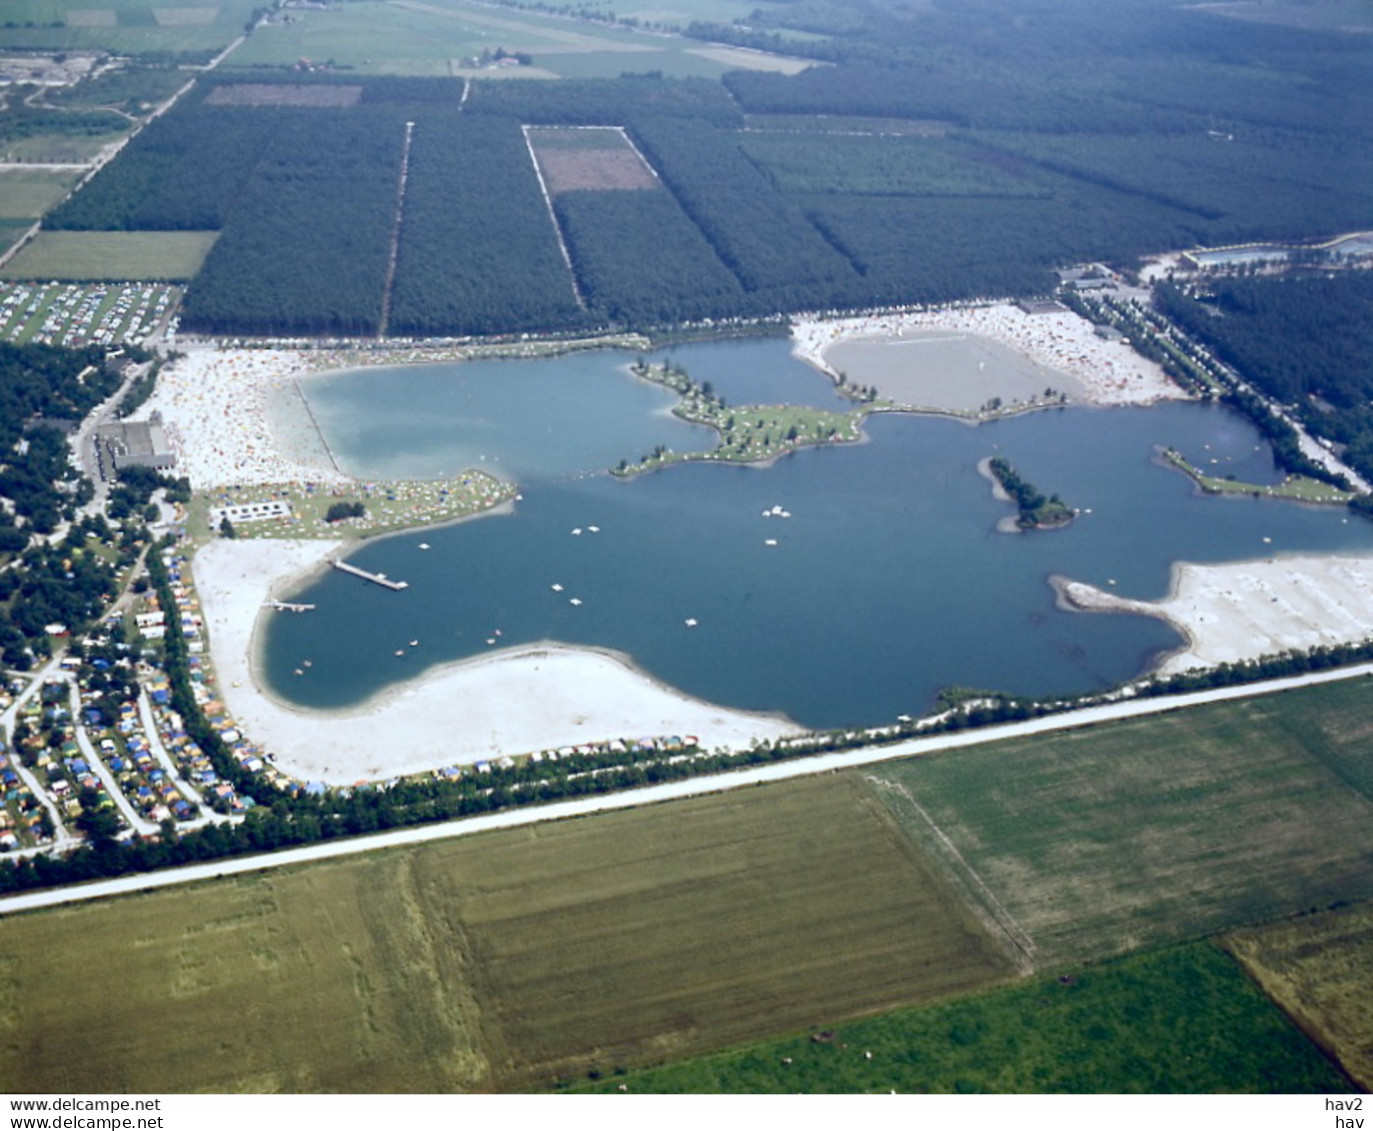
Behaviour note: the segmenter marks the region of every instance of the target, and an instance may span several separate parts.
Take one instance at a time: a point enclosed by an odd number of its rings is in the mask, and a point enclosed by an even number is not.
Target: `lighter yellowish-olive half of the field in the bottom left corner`
[[[467,953],[423,899],[379,854],[7,922],[0,1088],[478,1084]]]

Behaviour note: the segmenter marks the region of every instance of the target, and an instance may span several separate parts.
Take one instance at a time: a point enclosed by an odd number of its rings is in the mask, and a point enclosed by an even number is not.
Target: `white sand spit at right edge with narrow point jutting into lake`
[[[1118,597],[1067,578],[1054,578],[1054,587],[1067,608],[1174,625],[1188,645],[1163,662],[1163,674],[1373,637],[1373,556],[1181,561],[1162,601]]]

